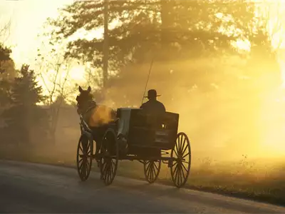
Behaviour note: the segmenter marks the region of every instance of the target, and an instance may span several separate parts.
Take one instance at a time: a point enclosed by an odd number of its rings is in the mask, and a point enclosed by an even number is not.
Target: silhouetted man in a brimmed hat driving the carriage
[[[165,113],[165,106],[160,103],[160,101],[157,101],[157,96],[160,95],[157,95],[155,89],[150,89],[147,91],[147,96],[145,96],[145,98],[148,98],[148,101],[142,103],[142,106],[140,106],[140,108],[145,109],[150,113]]]

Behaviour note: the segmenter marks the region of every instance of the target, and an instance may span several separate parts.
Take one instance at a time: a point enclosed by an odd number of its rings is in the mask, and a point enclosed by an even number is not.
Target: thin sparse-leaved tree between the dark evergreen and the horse
[[[77,90],[70,79],[73,61],[63,57],[61,47],[43,41],[36,58],[39,67],[38,76],[40,76],[46,91],[45,104],[50,117],[48,133],[53,145],[56,143],[56,129],[61,106]]]

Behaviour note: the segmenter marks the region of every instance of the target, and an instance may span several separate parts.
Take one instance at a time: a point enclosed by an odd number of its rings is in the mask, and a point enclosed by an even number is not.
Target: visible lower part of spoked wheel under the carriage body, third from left
[[[143,164],[144,172],[145,172],[145,180],[148,183],[154,183],[160,174],[161,161],[145,161]]]

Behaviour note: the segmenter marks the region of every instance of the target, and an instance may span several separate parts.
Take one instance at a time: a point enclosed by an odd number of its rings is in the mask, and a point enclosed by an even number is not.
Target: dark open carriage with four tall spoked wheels
[[[136,160],[143,163],[145,179],[149,183],[157,179],[161,163],[167,163],[173,183],[182,187],[190,173],[191,149],[187,135],[177,134],[178,121],[177,113],[153,116],[139,108],[118,108],[116,120],[103,128],[101,126],[103,137],[101,141],[98,138],[95,141],[96,130],[89,128],[81,116],[77,150],[81,180],[88,179],[93,159],[98,162],[101,179],[106,185],[113,182],[118,161]],[[93,142],[96,143],[95,153]]]

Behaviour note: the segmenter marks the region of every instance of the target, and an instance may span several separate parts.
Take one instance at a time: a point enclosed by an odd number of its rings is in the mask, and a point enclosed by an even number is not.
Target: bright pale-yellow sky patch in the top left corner
[[[49,16],[74,0],[0,0],[0,26],[11,19],[11,33],[6,41],[11,46],[16,66],[31,63],[38,48],[37,35]]]

